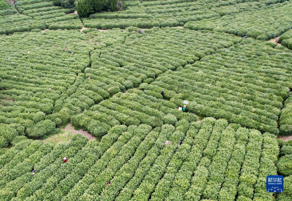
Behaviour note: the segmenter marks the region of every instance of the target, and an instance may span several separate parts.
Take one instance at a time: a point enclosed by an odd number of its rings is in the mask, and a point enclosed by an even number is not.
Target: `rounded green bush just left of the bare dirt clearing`
[[[36,123],[33,127],[26,129],[27,136],[30,138],[43,138],[47,135],[53,134],[56,124],[51,120],[44,120]]]

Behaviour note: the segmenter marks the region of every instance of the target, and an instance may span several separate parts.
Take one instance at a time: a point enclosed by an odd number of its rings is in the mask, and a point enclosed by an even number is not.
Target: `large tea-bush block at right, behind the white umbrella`
[[[164,98],[176,105],[188,100],[187,111],[202,117],[277,134],[278,115],[291,87],[289,57],[291,52],[283,48],[246,39],[183,69],[167,71],[139,89],[164,91]]]

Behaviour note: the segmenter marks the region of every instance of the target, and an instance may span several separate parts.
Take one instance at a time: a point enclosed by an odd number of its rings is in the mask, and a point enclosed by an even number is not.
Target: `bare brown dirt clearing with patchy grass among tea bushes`
[[[68,124],[65,128],[61,129],[60,133],[44,139],[44,142],[51,142],[54,144],[57,144],[62,141],[70,142],[72,137],[76,134],[82,134],[83,136],[87,137],[89,140],[96,140],[96,137],[92,136],[87,131],[83,131],[82,129],[75,130],[72,124]]]

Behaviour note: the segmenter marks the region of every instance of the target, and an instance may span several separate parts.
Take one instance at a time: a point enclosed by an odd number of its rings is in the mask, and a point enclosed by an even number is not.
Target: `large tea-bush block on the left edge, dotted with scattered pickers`
[[[74,84],[76,74],[88,67],[93,46],[84,42],[86,39],[88,36],[79,31],[1,36],[5,48],[0,50],[0,123],[18,125],[16,130],[32,138],[53,133],[56,122],[45,120],[46,115]],[[5,138],[7,145],[12,139]]]

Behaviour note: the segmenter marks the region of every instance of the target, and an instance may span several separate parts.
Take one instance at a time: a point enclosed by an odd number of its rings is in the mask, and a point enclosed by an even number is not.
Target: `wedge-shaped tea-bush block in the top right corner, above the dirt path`
[[[187,22],[184,27],[191,30],[214,30],[241,36],[245,34],[258,40],[268,40],[277,37],[292,28],[292,18],[289,15],[291,2],[264,6],[256,11],[231,13],[222,18],[211,18]]]

